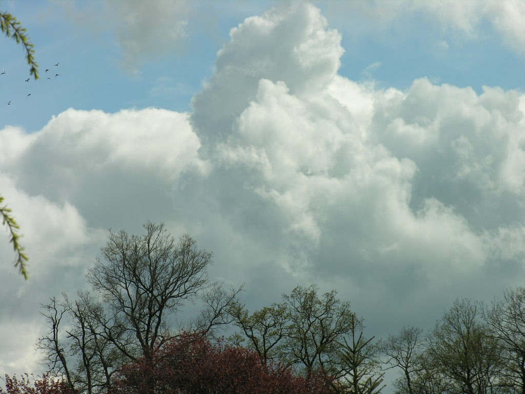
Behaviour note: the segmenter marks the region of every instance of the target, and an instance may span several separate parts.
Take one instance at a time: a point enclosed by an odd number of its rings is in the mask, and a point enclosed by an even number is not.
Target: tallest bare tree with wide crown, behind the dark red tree
[[[156,341],[169,334],[164,314],[176,312],[206,287],[206,268],[212,262],[212,254],[197,250],[190,235],[175,243],[162,223],[149,222],[144,228],[144,236],[110,232],[101,249],[104,261],[98,259],[87,274],[108,306],[109,318],[99,322],[107,339],[131,360],[148,357]],[[114,335],[113,327],[123,327],[124,335]]]

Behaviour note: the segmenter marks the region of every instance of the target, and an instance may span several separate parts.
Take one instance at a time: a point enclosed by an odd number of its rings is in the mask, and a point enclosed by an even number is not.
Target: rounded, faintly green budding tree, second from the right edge
[[[429,362],[456,392],[488,394],[497,387],[500,348],[479,315],[476,304],[457,299],[428,336]]]

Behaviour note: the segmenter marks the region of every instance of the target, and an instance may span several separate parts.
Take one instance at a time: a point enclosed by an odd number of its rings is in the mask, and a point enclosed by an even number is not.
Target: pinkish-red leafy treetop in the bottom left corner
[[[5,390],[0,387],[0,394],[76,394],[67,387],[66,382],[52,379],[48,374],[33,379],[29,376],[33,377],[25,374],[18,379],[15,375],[6,375]]]

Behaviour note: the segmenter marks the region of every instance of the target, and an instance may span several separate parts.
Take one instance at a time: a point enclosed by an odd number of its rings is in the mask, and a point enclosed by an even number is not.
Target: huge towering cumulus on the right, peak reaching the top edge
[[[461,7],[467,18],[477,6]],[[450,23],[470,32],[476,20]],[[276,34],[282,26],[294,34]],[[369,314],[397,322],[413,297],[422,308],[458,289],[475,297],[515,283],[525,250],[519,92],[478,95],[425,78],[407,91],[376,89],[338,76],[340,36],[306,4],[249,18],[231,35],[194,97],[192,125],[210,179],[227,185],[208,204],[234,230],[277,250],[296,280],[340,282]],[[310,36],[326,38],[308,48],[327,62],[304,76],[293,48]],[[391,297],[395,312],[383,308]]]

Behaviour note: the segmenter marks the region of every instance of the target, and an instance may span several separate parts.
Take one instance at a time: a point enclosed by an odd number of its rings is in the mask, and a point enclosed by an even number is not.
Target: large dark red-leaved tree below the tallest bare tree
[[[203,335],[166,341],[151,358],[124,366],[112,394],[327,394],[322,376],[305,379],[280,364],[265,365],[256,352]]]

